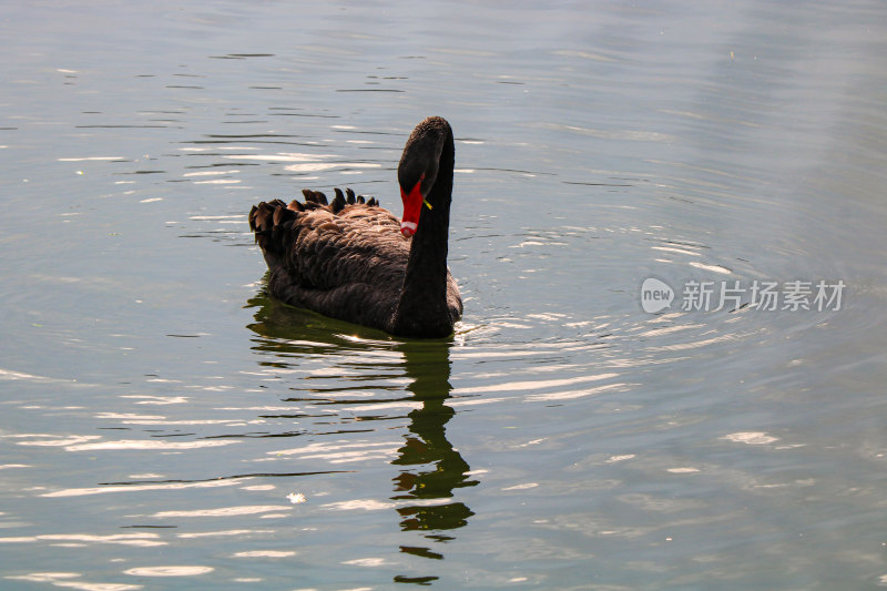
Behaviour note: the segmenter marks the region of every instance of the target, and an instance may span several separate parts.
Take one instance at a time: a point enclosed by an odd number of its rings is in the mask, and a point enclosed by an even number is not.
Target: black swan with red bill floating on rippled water
[[[398,221],[346,190],[327,202],[304,190],[305,203],[259,203],[249,227],[268,264],[268,291],[287,304],[380,328],[396,336],[452,334],[462,299],[447,268],[455,162],[452,130],[432,116],[404,147],[397,179]]]

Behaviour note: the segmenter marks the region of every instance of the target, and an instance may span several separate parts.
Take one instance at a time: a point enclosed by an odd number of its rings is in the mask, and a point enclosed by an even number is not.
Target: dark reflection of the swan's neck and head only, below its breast
[[[439,342],[412,342],[400,347],[406,358],[406,374],[414,379],[408,388],[422,406],[409,414],[410,435],[398,450],[399,458],[392,462],[405,467],[395,479],[395,500],[450,499],[453,489],[478,483],[469,479],[468,463],[446,436],[446,425],[456,414],[446,405],[452,389],[449,346]],[[407,506],[398,512],[402,529],[427,531],[432,539],[440,539],[434,536],[435,531],[460,528],[475,514],[461,502]]]

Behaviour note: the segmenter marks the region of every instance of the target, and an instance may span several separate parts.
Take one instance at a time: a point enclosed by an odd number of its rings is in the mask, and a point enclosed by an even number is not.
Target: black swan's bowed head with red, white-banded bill
[[[397,167],[397,180],[400,184],[400,198],[404,201],[400,232],[407,237],[419,228],[422,204],[428,210],[434,208],[435,204],[428,201],[428,194],[437,182],[440,152],[448,129],[449,124],[443,119],[428,118],[412,130],[404,147]]]

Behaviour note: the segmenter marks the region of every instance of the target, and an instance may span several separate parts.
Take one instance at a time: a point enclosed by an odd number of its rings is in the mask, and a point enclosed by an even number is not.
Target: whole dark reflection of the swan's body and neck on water
[[[349,375],[360,367],[356,376],[360,380],[365,380],[373,371],[379,371],[380,378],[390,380],[391,370],[398,375],[402,371],[412,379],[407,387],[409,396],[399,400],[419,403],[421,406],[409,412],[406,440],[397,450],[397,458],[391,461],[400,469],[394,479],[395,495],[391,497],[398,506],[400,527],[405,531],[421,531],[427,538],[440,541],[449,539],[445,531],[465,526],[473,512],[462,502],[452,502],[453,491],[478,482],[471,480],[468,462],[453,449],[446,435],[446,426],[455,415],[452,407],[446,404],[452,389],[449,383],[451,343],[373,340],[379,334],[370,329],[365,329],[363,334],[358,330],[357,337],[346,339],[343,335],[355,333],[353,325],[310,312],[293,310],[262,294],[247,305],[256,309],[255,323],[248,328],[259,337],[254,339],[253,349],[261,356],[258,363],[263,366],[292,367],[302,365],[299,358],[314,358],[323,359],[332,374],[335,374],[338,364]],[[365,357],[365,353],[380,348],[399,351],[404,360],[386,361],[384,369],[378,361],[367,360],[366,366],[360,366],[359,359]],[[324,401],[327,405],[333,403]],[[355,398],[335,400],[336,404],[348,405],[361,401]],[[367,407],[371,408],[371,405]],[[441,558],[428,548],[402,546],[401,550],[425,558]],[[408,578],[399,580],[408,581]]]

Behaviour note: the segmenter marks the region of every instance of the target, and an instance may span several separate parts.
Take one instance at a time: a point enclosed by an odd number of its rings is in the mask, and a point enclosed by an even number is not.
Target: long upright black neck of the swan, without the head
[[[427,197],[431,208],[422,205],[419,227],[412,236],[404,289],[394,318],[396,334],[446,336],[452,330],[447,306],[447,243],[453,159],[452,132],[448,130],[437,180]]]

